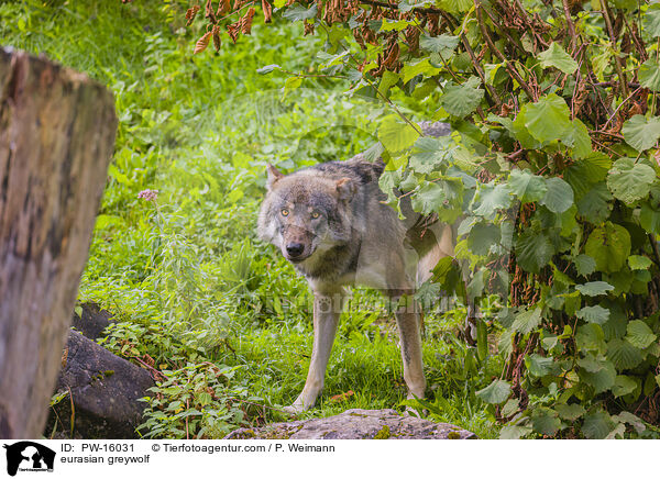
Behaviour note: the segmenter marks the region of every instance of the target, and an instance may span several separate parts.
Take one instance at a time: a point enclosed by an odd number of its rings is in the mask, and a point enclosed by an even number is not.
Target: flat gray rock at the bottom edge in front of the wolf
[[[260,428],[240,428],[226,439],[475,439],[476,435],[447,423],[433,423],[392,409],[351,409],[341,414]]]

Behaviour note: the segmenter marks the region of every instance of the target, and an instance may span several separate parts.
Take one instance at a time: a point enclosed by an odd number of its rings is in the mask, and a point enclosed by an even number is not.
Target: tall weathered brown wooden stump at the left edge
[[[116,131],[103,86],[0,48],[0,438],[43,432]]]

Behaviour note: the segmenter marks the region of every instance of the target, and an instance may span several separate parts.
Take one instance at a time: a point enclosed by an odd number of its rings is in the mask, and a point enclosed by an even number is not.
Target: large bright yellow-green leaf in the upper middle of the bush
[[[539,142],[559,140],[571,127],[570,115],[571,111],[564,99],[550,93],[527,105],[525,126]]]

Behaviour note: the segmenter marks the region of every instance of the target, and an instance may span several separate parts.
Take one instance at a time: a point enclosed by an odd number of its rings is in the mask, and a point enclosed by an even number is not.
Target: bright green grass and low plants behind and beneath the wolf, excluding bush
[[[283,74],[258,75],[268,64],[300,70],[319,48],[321,37],[302,40],[283,22],[193,56],[202,26],[184,27],[185,8],[10,1],[0,5],[0,37],[114,92],[116,154],[79,300],[121,319],[106,347],[153,360],[169,380],[143,434],[185,437],[187,417],[193,436],[220,437],[283,420],[277,406],[302,388],[311,353],[307,286],[254,234],[265,165],[293,170],[350,157],[373,143],[369,126],[381,107],[323,80],[285,96]],[[157,207],[138,199],[146,188],[160,191]],[[474,352],[453,339],[461,319],[460,310],[427,318],[428,414],[495,437],[493,412],[474,392],[490,383],[497,359],[466,368]],[[344,314],[324,392],[301,416],[403,410],[397,341],[382,309]]]

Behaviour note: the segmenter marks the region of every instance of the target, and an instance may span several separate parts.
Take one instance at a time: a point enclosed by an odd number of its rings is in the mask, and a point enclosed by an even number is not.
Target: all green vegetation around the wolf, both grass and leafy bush
[[[389,314],[355,291],[371,305],[343,315],[304,415],[408,404],[481,437],[660,432],[660,4],[30,0],[0,5],[0,25],[116,92],[80,301],[113,311],[106,347],[158,378],[145,436],[283,419],[310,307],[254,236],[265,164],[366,148],[384,191],[464,218],[458,260],[419,293],[459,301],[426,315],[429,399],[409,402]],[[452,135],[424,136],[428,119]],[[469,301],[474,346],[455,334]]]

